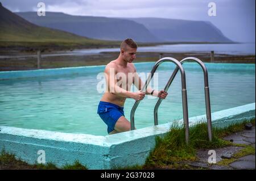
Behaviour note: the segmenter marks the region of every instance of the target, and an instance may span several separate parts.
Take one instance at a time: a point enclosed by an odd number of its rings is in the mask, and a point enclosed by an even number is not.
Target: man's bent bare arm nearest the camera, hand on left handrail
[[[115,79],[115,68],[114,66],[107,65],[105,68],[105,78],[108,87],[108,92],[123,98],[133,98],[135,100],[142,100],[144,98],[143,92],[130,92],[117,85],[117,79]]]

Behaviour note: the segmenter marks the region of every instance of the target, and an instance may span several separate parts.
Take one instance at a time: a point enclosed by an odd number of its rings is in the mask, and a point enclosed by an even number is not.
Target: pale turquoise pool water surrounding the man
[[[135,64],[138,73],[150,72],[154,63]],[[212,112],[255,102],[254,64],[205,64],[208,68]],[[163,89],[175,66],[163,63],[158,86]],[[203,71],[195,63],[184,64],[189,117],[205,114]],[[97,115],[102,93],[97,92],[97,74],[104,66],[86,68],[79,74],[7,79],[0,81],[0,125],[69,133],[106,135],[106,125]],[[158,99],[145,98],[135,112],[135,127],[154,125]],[[125,115],[135,100],[127,99]],[[159,107],[159,124],[182,119],[180,74],[176,75],[166,100]]]

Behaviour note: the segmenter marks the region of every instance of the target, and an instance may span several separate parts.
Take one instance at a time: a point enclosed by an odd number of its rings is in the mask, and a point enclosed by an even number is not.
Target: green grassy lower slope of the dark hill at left
[[[119,46],[119,41],[89,39],[73,33],[35,26],[26,20],[12,17],[14,22],[2,20],[0,25],[0,48],[76,48]],[[16,23],[20,23],[17,26]]]

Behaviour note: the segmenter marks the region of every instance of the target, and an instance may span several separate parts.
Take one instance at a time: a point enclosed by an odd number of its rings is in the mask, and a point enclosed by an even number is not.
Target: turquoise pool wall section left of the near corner
[[[2,133],[3,132],[3,133]],[[81,140],[97,140],[92,135],[77,135],[33,129],[1,127],[0,148],[15,154],[16,158],[30,164],[38,163],[39,156],[45,151],[46,163],[57,167],[73,164],[79,160],[90,169],[104,169],[104,145]],[[80,140],[80,141],[79,141]],[[39,153],[39,154],[38,154]]]

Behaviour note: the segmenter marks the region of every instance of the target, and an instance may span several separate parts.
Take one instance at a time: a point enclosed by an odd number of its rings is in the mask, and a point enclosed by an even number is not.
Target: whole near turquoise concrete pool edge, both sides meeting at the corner
[[[213,126],[221,126],[255,118],[255,103],[212,113]],[[190,125],[203,120],[205,115],[189,118]],[[182,120],[179,120],[182,123]],[[34,164],[39,150],[45,151],[46,163],[56,166],[79,160],[89,169],[115,169],[143,165],[155,146],[155,136],[164,136],[171,123],[147,127],[109,136],[72,134],[36,129],[0,127],[0,150]]]

